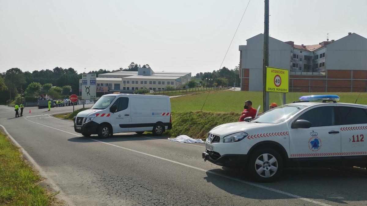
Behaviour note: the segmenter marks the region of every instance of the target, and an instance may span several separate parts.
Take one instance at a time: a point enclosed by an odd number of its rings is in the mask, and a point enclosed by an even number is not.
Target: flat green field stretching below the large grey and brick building
[[[336,94],[340,97],[339,102],[355,103],[359,92],[290,92],[287,94],[287,103],[298,101],[300,96],[319,94]],[[252,107],[256,109],[259,105],[262,105],[262,92],[218,91],[172,98],[172,112],[200,111],[207,97],[208,99],[203,107],[203,111],[240,112],[243,110],[243,105],[246,100],[251,100]],[[276,102],[280,105],[282,101],[283,94],[270,93],[270,103]],[[357,104],[367,104],[367,93],[360,93]],[[263,108],[261,106],[260,111],[262,110]]]

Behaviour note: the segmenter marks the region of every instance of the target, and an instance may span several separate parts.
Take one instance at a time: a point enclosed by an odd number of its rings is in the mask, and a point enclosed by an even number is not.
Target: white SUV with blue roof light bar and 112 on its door
[[[213,128],[204,161],[246,169],[261,182],[274,181],[286,167],[365,168],[367,106],[337,103],[337,95],[299,100]]]

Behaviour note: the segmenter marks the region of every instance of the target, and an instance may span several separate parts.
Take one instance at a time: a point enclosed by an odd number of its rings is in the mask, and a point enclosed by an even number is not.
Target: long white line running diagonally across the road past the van
[[[28,120],[28,121],[30,121],[29,119],[27,119],[27,120]],[[30,122],[33,122],[33,121],[30,121]],[[61,130],[61,129],[53,128],[53,127],[51,127],[51,126],[47,126],[47,125],[44,125],[44,124],[41,124],[41,123],[38,123],[38,122],[33,122],[33,123],[36,123],[36,124],[39,124],[39,125],[43,125],[43,126],[46,126],[46,127],[48,127],[48,128],[56,129],[56,130],[59,130],[59,131],[61,131],[61,132],[69,133],[69,134],[71,134],[71,135],[80,136],[80,135],[78,135],[78,134],[74,134],[74,133],[67,132],[67,131],[64,131],[64,130]],[[212,171],[210,171],[210,170],[197,168],[197,167],[195,167],[195,166],[191,166],[191,165],[187,165],[187,164],[185,164],[185,163],[181,163],[181,162],[173,161],[173,160],[171,160],[171,159],[166,159],[166,158],[163,158],[163,157],[158,157],[158,156],[156,156],[156,155],[148,154],[148,153],[145,153],[145,152],[140,152],[140,151],[137,151],[137,150],[132,150],[132,149],[129,149],[129,148],[126,148],[126,147],[117,146],[117,145],[115,145],[115,144],[111,144],[111,143],[107,143],[107,142],[104,142],[104,141],[95,140],[95,139],[88,138],[88,137],[84,137],[84,138],[86,138],[86,139],[90,139],[90,140],[93,140],[93,141],[97,141],[97,142],[100,142],[100,143],[103,143],[103,144],[108,144],[108,145],[110,145],[110,146],[118,147],[118,148],[121,148],[121,149],[124,149],[124,150],[128,150],[128,151],[136,152],[136,153],[139,153],[139,154],[147,155],[147,156],[150,156],[150,157],[154,157],[154,158],[157,158],[157,159],[161,159],[161,160],[164,160],[164,161],[172,162],[172,163],[175,163],[175,164],[178,164],[178,165],[186,166],[186,167],[188,167],[188,168],[192,168],[192,169],[200,170],[200,171],[203,171],[203,172],[207,172],[207,173],[215,174],[215,175],[217,175],[217,176],[225,177],[225,178],[227,178],[227,179],[234,180],[234,181],[238,181],[238,182],[240,182],[240,183],[244,183],[244,184],[252,185],[252,186],[254,186],[254,187],[262,188],[262,189],[264,189],[264,190],[269,190],[269,191],[277,192],[277,193],[279,193],[279,194],[287,195],[287,196],[290,196],[290,197],[295,198],[295,199],[301,199],[301,200],[304,200],[304,201],[306,201],[306,202],[310,202],[310,203],[314,203],[314,204],[322,205],[322,206],[331,206],[331,205],[328,205],[328,204],[326,204],[326,203],[319,202],[319,201],[315,201],[315,200],[312,200],[312,199],[309,199],[309,198],[304,198],[304,197],[302,197],[302,196],[294,195],[294,194],[291,194],[291,193],[289,193],[289,192],[284,192],[284,191],[277,190],[277,189],[274,189],[274,188],[270,188],[270,187],[266,187],[266,186],[259,185],[259,184],[256,184],[256,183],[252,183],[252,182],[249,182],[249,181],[241,180],[241,179],[238,179],[238,178],[235,178],[235,177],[231,177],[231,176],[228,176],[228,175],[225,175],[225,174],[220,174],[220,173],[217,173],[217,172],[212,172]]]

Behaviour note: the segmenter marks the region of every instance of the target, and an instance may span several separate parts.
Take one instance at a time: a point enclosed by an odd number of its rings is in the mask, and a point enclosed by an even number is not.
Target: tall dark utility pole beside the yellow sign
[[[266,92],[266,67],[269,66],[269,0],[265,0],[265,12],[264,12],[264,59],[262,70],[262,98],[263,109],[268,110],[269,106],[269,93]]]

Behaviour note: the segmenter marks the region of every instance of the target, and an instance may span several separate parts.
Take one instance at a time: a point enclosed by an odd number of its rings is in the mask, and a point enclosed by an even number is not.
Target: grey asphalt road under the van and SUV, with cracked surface
[[[0,106],[0,125],[67,205],[367,205],[364,169],[288,169],[275,183],[259,184],[204,162],[204,144],[134,133],[86,138],[71,121],[49,115],[70,110],[26,107],[15,118],[13,108]]]

